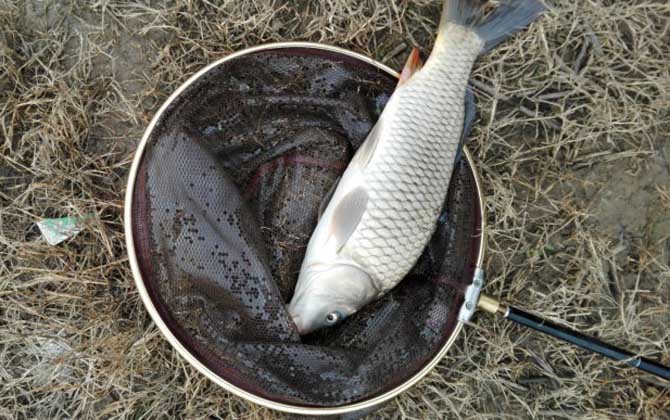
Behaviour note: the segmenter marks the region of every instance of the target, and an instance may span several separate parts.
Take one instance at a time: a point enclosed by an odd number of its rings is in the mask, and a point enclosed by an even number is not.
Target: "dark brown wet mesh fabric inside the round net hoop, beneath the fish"
[[[395,85],[338,53],[256,52],[201,77],[153,130],[132,208],[142,280],[172,333],[224,380],[283,403],[348,404],[414,376],[453,333],[479,252],[465,161],[392,292],[307,337],[285,309],[321,201]]]

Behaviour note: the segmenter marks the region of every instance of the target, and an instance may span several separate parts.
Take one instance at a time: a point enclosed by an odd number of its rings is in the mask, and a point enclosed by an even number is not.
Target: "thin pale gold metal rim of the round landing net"
[[[137,147],[137,151],[135,152],[135,156],[133,158],[132,166],[130,169],[130,174],[128,177],[128,184],[126,187],[126,197],[125,197],[125,203],[124,203],[124,228],[125,228],[125,235],[126,235],[126,246],[128,250],[128,260],[130,263],[130,267],[132,270],[133,274],[133,280],[135,282],[135,286],[140,294],[140,298],[142,299],[142,303],[144,307],[146,308],[147,312],[149,313],[152,321],[156,324],[158,327],[158,330],[160,331],[161,335],[170,343],[170,345],[177,350],[179,355],[183,357],[191,366],[193,366],[196,370],[198,370],[200,373],[205,375],[208,379],[213,381],[215,384],[218,386],[222,387],[226,391],[236,395],[237,397],[243,398],[245,400],[248,400],[254,404],[258,404],[273,410],[278,410],[286,413],[292,413],[292,414],[299,414],[299,415],[339,415],[339,414],[345,414],[345,413],[350,413],[354,411],[360,411],[360,410],[366,410],[378,405],[383,404],[384,402],[396,397],[397,395],[401,394],[402,392],[406,391],[407,389],[411,388],[414,386],[417,382],[419,382],[421,379],[423,379],[441,360],[442,358],[447,354],[451,346],[454,344],[456,341],[456,338],[459,336],[462,328],[463,328],[463,323],[458,321],[456,324],[456,327],[452,331],[449,339],[447,342],[444,344],[444,346],[435,354],[435,356],[428,362],[426,363],[417,373],[415,373],[409,380],[405,381],[404,383],[398,385],[397,387],[381,394],[376,397],[370,398],[368,400],[352,403],[352,404],[347,404],[347,405],[342,405],[342,406],[336,406],[336,407],[304,407],[304,406],[299,406],[299,405],[291,405],[291,404],[286,404],[286,403],[280,403],[277,401],[273,401],[267,398],[263,398],[260,396],[257,396],[249,391],[246,391],[228,381],[226,381],[224,378],[222,378],[220,375],[216,374],[212,370],[210,370],[207,366],[205,366],[196,356],[194,356],[180,341],[177,339],[177,337],[173,334],[173,332],[170,330],[166,322],[163,320],[161,315],[159,314],[158,310],[156,309],[156,306],[154,305],[154,302],[152,298],[149,295],[149,292],[147,290],[147,287],[145,286],[145,282],[142,278],[142,274],[140,271],[140,265],[138,261],[138,256],[135,248],[135,238],[133,234],[133,220],[132,220],[132,209],[133,209],[133,197],[134,197],[134,192],[135,192],[135,185],[138,179],[139,171],[140,171],[140,166],[142,163],[142,159],[144,157],[144,152],[147,149],[147,144],[152,136],[152,133],[154,131],[154,128],[158,124],[158,122],[161,120],[163,117],[163,114],[166,112],[166,110],[169,108],[169,106],[184,92],[190,87],[194,82],[199,80],[203,75],[207,74],[210,70],[216,68],[217,66],[226,63],[230,60],[234,60],[236,58],[239,58],[244,55],[248,54],[253,54],[256,52],[260,51],[267,51],[267,50],[281,50],[281,49],[315,49],[315,50],[320,50],[323,52],[330,52],[330,53],[335,53],[335,54],[341,54],[344,56],[348,56],[349,58],[353,58],[356,60],[359,60],[363,62],[364,64],[371,65],[376,67],[377,69],[388,73],[392,75],[393,77],[399,77],[398,72],[395,70],[391,69],[390,67],[377,62],[369,57],[366,57],[364,55],[354,53],[352,51],[342,49],[339,47],[334,47],[326,44],[319,44],[319,43],[310,43],[310,42],[281,42],[281,43],[271,43],[271,44],[265,44],[261,46],[256,46],[256,47],[251,47],[247,48],[244,50],[237,51],[235,53],[232,53],[224,58],[221,58],[208,66],[204,67],[202,70],[197,72],[195,75],[193,75],[191,78],[189,78],[185,83],[183,83],[179,88],[172,93],[168,97],[168,99],[161,105],[159,110],[156,112],[154,117],[152,118],[149,126],[145,130],[142,139]],[[476,195],[478,199],[478,207],[480,210],[480,232],[481,234],[479,235],[479,244],[478,244],[478,249],[479,249],[479,254],[477,256],[477,263],[476,267],[481,268],[482,267],[482,262],[484,259],[485,255],[485,236],[486,236],[486,218],[485,218],[485,209],[484,209],[484,203],[483,203],[483,195],[482,195],[482,190],[481,190],[481,181],[479,178],[479,174],[477,173],[476,170],[474,170],[474,160],[472,158],[472,155],[470,152],[467,150],[467,147],[464,149],[464,156],[465,159],[468,162],[468,167],[470,168],[471,174],[474,178],[475,181],[475,187],[476,187]]]

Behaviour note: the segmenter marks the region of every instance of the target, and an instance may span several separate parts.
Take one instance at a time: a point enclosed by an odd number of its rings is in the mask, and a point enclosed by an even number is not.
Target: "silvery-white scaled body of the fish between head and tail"
[[[407,275],[435,231],[461,140],[482,41],[460,27],[445,38],[382,117],[382,138],[363,173],[367,211],[343,249],[382,292]]]

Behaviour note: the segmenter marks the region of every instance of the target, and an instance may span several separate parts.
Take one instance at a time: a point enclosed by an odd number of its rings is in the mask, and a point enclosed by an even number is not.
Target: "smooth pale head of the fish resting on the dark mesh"
[[[300,335],[332,327],[377,297],[372,277],[348,264],[314,264],[300,272],[288,306]]]

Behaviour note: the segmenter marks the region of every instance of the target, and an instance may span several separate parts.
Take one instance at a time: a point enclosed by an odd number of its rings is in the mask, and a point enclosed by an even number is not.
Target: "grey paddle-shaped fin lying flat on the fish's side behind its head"
[[[368,207],[368,193],[358,187],[345,195],[337,204],[330,225],[330,234],[335,238],[339,252],[356,230]]]

